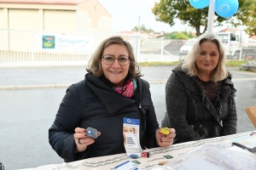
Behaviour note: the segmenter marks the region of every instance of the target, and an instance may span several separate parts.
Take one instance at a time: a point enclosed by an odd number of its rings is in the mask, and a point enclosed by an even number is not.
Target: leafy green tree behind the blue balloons
[[[224,23],[230,23],[233,26],[247,26],[253,24],[253,26],[250,27],[256,27],[255,23],[248,20],[248,18],[253,20],[251,13],[255,10],[255,0],[238,1],[239,9],[238,12],[233,15],[234,17],[224,18],[215,13],[215,26],[223,26]],[[209,7],[200,9],[194,8],[190,5],[189,0],[160,0],[160,3],[154,3],[152,12],[156,16],[156,20],[165,22],[170,26],[175,25],[174,19],[181,20],[183,24],[195,28],[196,36],[200,36],[207,31],[208,9]],[[256,15],[255,13],[253,14]],[[201,27],[203,31],[201,31]]]

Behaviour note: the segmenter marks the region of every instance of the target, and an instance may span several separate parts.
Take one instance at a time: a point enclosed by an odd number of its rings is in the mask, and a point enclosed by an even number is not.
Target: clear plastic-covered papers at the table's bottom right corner
[[[255,156],[247,156],[238,151],[226,150],[215,144],[204,144],[199,150],[194,150],[189,154],[167,161],[163,167],[165,170],[256,169],[255,161]]]

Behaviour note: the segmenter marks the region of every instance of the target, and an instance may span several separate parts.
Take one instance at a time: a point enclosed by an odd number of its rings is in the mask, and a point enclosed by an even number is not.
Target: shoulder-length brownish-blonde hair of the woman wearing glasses
[[[122,37],[108,37],[107,39],[105,39],[99,45],[99,47],[96,48],[95,53],[90,58],[86,71],[88,71],[89,73],[92,73],[96,77],[101,77],[103,75],[102,62],[101,62],[102,54],[104,49],[108,48],[108,46],[112,44],[120,44],[125,46],[130,58],[129,73],[131,74],[131,78],[142,77],[142,74],[139,70],[139,66],[135,61],[135,56],[133,54],[131,44],[129,42],[125,42]]]

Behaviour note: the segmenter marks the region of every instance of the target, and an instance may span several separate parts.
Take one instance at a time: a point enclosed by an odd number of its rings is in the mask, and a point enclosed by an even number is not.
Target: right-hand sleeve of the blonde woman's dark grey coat
[[[236,115],[236,103],[235,103],[235,94],[231,93],[228,107],[229,113],[223,120],[223,129],[221,135],[230,135],[236,134],[236,125],[237,125],[237,115]]]

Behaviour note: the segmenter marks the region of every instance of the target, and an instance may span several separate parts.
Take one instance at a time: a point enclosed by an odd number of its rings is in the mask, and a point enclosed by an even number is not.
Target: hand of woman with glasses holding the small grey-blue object
[[[97,132],[97,136],[99,137],[100,135],[101,133]],[[77,144],[77,147],[75,149],[75,151],[77,152],[86,150],[89,144],[93,144],[95,142],[95,139],[92,139],[87,136],[86,129],[80,128],[80,127],[75,128],[75,133],[73,134],[73,138]],[[80,144],[79,144],[79,141],[80,141]]]

